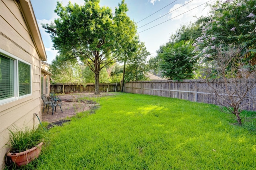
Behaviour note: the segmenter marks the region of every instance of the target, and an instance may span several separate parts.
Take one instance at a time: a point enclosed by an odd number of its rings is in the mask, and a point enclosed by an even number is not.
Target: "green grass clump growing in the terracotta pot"
[[[8,129],[10,131],[10,146],[11,153],[18,153],[29,150],[42,142],[44,138],[44,132],[38,129],[30,129],[25,127],[24,130],[13,126],[13,129]]]

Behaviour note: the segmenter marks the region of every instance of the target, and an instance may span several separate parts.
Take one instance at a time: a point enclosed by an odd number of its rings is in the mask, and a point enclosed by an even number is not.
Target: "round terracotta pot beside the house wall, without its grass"
[[[30,150],[26,150],[20,153],[11,153],[10,150],[8,150],[7,156],[11,157],[12,162],[14,162],[19,167],[22,165],[26,165],[32,160],[34,160],[35,158],[38,158],[42,149],[42,144],[44,143],[41,142],[34,148],[31,148]]]

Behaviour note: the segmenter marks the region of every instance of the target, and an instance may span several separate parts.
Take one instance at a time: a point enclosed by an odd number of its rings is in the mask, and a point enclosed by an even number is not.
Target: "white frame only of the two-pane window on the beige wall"
[[[0,100],[0,105],[6,104],[8,102],[13,102],[20,98],[31,96],[32,95],[32,64],[30,64],[29,62],[26,62],[25,60],[22,60],[21,58],[18,58],[17,56],[14,56],[10,52],[7,52],[1,48],[0,48],[0,54],[14,60],[14,64],[13,64],[14,65],[14,70],[13,70],[14,71],[14,97]],[[19,86],[18,86],[18,82],[19,82],[18,62],[19,61],[24,62],[25,64],[28,64],[30,66],[30,93],[23,96],[19,96]]]

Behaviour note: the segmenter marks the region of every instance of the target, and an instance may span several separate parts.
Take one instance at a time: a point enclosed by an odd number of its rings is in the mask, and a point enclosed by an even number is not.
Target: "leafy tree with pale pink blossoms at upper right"
[[[202,26],[202,34],[194,43],[199,55],[196,59],[202,63],[210,60],[209,56],[218,54],[217,48],[227,44],[256,48],[256,1],[255,0],[224,0],[216,1],[210,11],[208,21]],[[256,53],[253,50],[245,53],[248,64],[256,64]]]

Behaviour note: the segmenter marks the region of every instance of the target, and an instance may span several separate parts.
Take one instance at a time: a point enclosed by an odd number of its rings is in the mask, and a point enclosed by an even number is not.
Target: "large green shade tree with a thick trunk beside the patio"
[[[54,23],[42,24],[56,50],[71,53],[71,58],[79,57],[94,72],[95,94],[100,93],[102,68],[115,62],[120,49],[129,48],[130,39],[125,37],[136,34],[136,25],[126,15],[128,8],[124,0],[118,4],[115,14],[108,7],[100,7],[99,2],[85,0],[83,6],[69,2],[66,7],[57,2],[54,12],[59,18]]]

